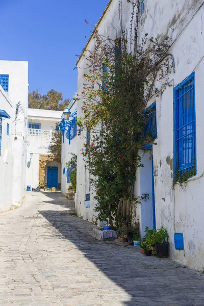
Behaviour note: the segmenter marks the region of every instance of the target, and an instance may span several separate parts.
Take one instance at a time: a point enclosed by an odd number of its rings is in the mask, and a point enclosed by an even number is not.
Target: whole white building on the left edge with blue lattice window
[[[27,146],[28,62],[0,61],[0,212],[20,206]],[[2,119],[1,119],[2,118]]]

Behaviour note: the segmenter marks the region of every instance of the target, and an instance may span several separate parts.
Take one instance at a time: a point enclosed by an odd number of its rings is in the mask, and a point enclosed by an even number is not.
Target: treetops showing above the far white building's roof
[[[62,111],[64,110],[70,100],[64,99],[63,94],[54,89],[51,89],[47,94],[41,95],[38,91],[33,90],[30,93],[29,108]]]

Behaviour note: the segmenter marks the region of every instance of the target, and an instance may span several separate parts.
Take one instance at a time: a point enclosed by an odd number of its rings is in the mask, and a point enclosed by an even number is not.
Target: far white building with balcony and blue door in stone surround
[[[61,188],[61,164],[48,152],[61,111],[28,109],[28,148],[25,187]]]

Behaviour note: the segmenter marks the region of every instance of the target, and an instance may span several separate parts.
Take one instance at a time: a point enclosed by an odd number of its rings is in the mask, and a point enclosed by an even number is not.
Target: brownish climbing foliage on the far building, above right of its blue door
[[[62,133],[53,131],[50,144],[48,145],[48,152],[53,155],[55,162],[61,164],[62,154]]]

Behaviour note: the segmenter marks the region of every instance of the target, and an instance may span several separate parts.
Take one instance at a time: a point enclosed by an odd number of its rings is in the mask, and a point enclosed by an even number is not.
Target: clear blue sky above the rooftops
[[[30,91],[49,89],[71,98],[77,57],[109,0],[0,1],[0,60],[29,62]],[[86,36],[86,38],[85,38]]]

